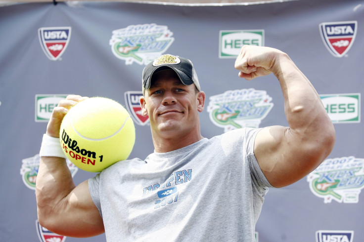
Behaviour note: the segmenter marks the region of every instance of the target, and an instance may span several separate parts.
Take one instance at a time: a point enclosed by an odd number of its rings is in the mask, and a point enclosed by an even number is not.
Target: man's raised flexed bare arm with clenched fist
[[[270,126],[256,136],[254,153],[274,187],[290,185],[313,171],[331,152],[335,130],[311,82],[287,54],[244,46],[235,62],[247,80],[273,73],[278,79],[289,127]]]

